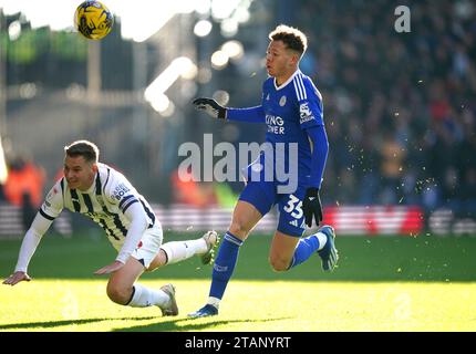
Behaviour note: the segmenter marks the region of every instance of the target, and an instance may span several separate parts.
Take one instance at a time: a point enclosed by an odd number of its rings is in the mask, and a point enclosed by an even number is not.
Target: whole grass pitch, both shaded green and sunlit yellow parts
[[[331,274],[320,270],[318,257],[272,272],[269,243],[263,236],[247,240],[219,316],[188,320],[209,288],[210,267],[198,259],[143,277],[153,288],[177,288],[180,314],[162,317],[157,308],[107,299],[106,278],[92,274],[115,257],[104,238],[46,236],[30,264],[33,281],[0,287],[0,331],[476,331],[475,238],[341,237],[341,261]],[[19,246],[0,241],[2,277]]]

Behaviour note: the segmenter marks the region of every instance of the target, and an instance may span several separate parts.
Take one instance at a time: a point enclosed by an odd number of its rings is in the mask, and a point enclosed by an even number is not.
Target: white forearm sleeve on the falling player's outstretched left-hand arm
[[[15,272],[27,272],[28,264],[40,243],[41,238],[52,223],[52,220],[48,220],[40,212],[37,212],[30,229],[27,231],[23,241],[21,242],[20,254],[18,256],[17,267],[14,268]]]

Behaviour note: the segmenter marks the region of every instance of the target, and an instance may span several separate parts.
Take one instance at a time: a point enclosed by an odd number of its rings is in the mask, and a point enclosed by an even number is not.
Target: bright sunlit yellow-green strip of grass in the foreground
[[[220,314],[188,320],[205,280],[172,280],[180,313],[115,305],[105,281],[35,280],[0,292],[0,331],[475,331],[474,283],[235,281]],[[158,288],[162,281],[144,282]],[[293,300],[289,300],[289,299]]]

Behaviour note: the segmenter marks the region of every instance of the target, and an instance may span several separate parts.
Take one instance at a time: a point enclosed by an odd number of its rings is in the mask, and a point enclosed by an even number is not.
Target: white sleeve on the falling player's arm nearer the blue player
[[[123,247],[121,248],[116,261],[125,264],[131,253],[135,250],[147,229],[147,219],[139,202],[132,204],[125,211],[125,216],[131,220],[131,226]]]

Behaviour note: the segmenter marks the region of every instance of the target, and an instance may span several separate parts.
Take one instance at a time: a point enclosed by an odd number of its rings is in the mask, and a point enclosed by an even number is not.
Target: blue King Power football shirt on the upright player
[[[266,123],[268,128],[266,142],[273,148],[273,155],[261,152],[260,156],[250,165],[246,177],[260,175],[260,180],[269,180],[261,176],[260,166],[267,166],[273,171],[282,171],[296,176],[299,185],[320,186],[322,176],[321,167],[314,168],[314,177],[311,177],[312,153],[314,146],[308,129],[315,126],[323,128],[322,96],[309,76],[297,70],[291,77],[280,86],[277,86],[275,77],[269,77],[262,85],[261,105],[249,108],[228,108],[227,118],[230,121]],[[325,134],[324,134],[325,136]],[[322,152],[323,162],[327,157]],[[317,146],[317,148],[320,148]],[[321,147],[322,148],[322,147]],[[294,149],[294,150],[293,150]],[[320,154],[319,150],[315,152]],[[298,160],[291,160],[297,158]],[[293,167],[297,170],[293,170]],[[255,168],[253,168],[255,167]],[[265,170],[263,168],[262,170]],[[278,178],[276,178],[278,175]],[[279,173],[273,174],[273,180],[282,181]],[[317,180],[310,180],[310,178]]]

